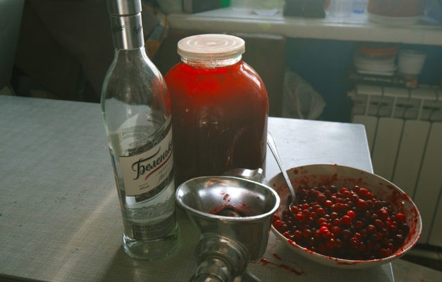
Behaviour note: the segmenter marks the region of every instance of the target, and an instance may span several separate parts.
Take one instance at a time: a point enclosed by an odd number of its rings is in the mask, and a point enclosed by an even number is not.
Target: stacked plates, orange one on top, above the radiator
[[[354,66],[360,74],[391,76],[396,72],[396,44],[365,43],[354,54]]]

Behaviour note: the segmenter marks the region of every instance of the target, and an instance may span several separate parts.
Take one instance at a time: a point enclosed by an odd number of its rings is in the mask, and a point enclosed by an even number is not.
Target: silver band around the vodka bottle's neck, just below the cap
[[[111,15],[113,46],[119,50],[144,47],[141,13],[128,16]]]

